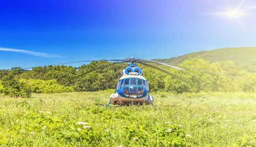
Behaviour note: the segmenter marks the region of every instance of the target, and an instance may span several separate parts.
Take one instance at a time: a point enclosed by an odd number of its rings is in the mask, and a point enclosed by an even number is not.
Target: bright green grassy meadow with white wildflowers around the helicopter
[[[153,93],[151,105],[108,104],[111,92],[0,95],[1,146],[255,146],[256,94]],[[84,122],[84,123],[78,123]]]

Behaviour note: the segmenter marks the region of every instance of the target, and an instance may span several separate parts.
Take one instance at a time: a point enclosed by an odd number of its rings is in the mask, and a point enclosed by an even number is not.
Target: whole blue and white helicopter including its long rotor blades
[[[201,70],[201,71],[206,71],[206,72],[210,72],[210,73],[215,73],[215,74],[220,74],[220,75],[224,75],[224,76],[229,76],[232,78],[238,78],[238,79],[242,79],[242,80],[247,80],[247,81],[251,81],[248,79],[243,79],[243,78],[239,78],[239,77],[234,77],[231,75],[226,75],[226,74],[222,74],[222,73],[217,73],[217,72],[212,72],[212,71],[208,71],[208,70],[203,70],[203,69],[198,69],[198,68],[193,68],[193,67],[187,67],[187,66],[182,66],[182,65],[175,65],[175,64],[166,64],[166,63],[161,63],[161,62],[157,62],[157,61],[152,61],[152,60],[142,60],[142,59],[135,59],[134,57],[131,58],[125,58],[123,60],[90,60],[90,61],[79,61],[79,62],[69,62],[69,63],[60,63],[60,64],[53,64],[53,65],[46,65],[46,66],[56,66],[56,65],[64,65],[64,64],[73,64],[73,63],[84,63],[84,62],[93,62],[93,61],[112,61],[113,63],[108,64],[108,65],[104,65],[104,66],[100,66],[97,67],[93,70],[87,71],[85,73],[82,73],[80,75],[75,76],[74,78],[78,78],[81,76],[84,76],[90,72],[96,71],[98,69],[103,69],[115,64],[120,64],[120,63],[127,63],[129,66],[126,67],[125,69],[121,70],[121,77],[117,82],[116,85],[116,91],[114,92],[114,94],[110,95],[110,102],[108,104],[108,106],[110,104],[113,105],[129,105],[129,104],[147,104],[147,105],[153,105],[154,107],[154,97],[150,96],[149,94],[149,90],[150,90],[150,86],[147,82],[147,80],[145,79],[145,77],[143,77],[143,73],[142,70],[137,67],[137,63],[145,65],[147,67],[150,68],[154,68],[156,70],[159,70],[165,74],[171,75],[175,78],[178,78],[184,82],[190,83],[189,81],[186,81],[185,79],[176,76],[168,71],[165,71],[163,69],[160,69],[156,66],[153,66],[151,64],[148,63],[154,63],[154,64],[160,64],[160,65],[164,65],[170,68],[174,68],[177,70],[185,70],[182,68],[190,68],[190,69],[196,69],[196,70]],[[46,66],[37,66],[37,67],[46,67]],[[182,68],[179,68],[179,67]],[[13,71],[13,70],[25,70],[25,69],[30,69],[30,68],[35,68],[35,67],[29,67],[29,68],[21,68],[21,69],[11,69],[8,71]],[[190,83],[191,84],[191,83]]]

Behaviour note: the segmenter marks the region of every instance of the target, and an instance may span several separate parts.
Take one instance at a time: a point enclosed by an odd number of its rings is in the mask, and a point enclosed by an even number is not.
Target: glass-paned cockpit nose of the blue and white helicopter
[[[122,97],[141,98],[148,94],[149,86],[146,80],[136,77],[120,79],[117,83],[117,93]]]

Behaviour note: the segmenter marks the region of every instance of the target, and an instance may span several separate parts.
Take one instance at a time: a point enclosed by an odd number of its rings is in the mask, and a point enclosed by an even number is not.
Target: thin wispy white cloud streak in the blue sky
[[[25,49],[15,49],[15,48],[0,47],[0,51],[20,52],[20,53],[26,53],[34,56],[44,56],[44,57],[62,57],[56,54],[42,53],[42,52],[36,52],[36,51],[25,50]]]

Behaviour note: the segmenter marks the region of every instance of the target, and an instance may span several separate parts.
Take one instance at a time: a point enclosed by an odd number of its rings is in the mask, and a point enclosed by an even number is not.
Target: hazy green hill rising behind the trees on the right
[[[204,58],[210,63],[231,60],[237,66],[249,72],[256,72],[256,47],[220,48],[210,51],[192,52],[168,59],[156,59],[155,61],[180,64],[189,57]]]

